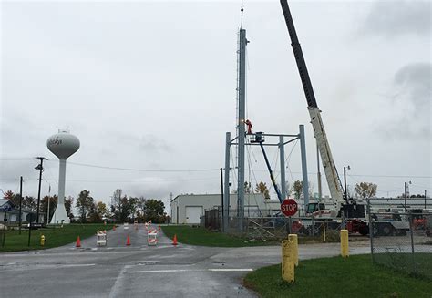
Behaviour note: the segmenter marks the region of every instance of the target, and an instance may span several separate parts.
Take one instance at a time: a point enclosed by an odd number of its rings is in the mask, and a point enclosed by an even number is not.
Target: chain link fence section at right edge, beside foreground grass
[[[431,224],[431,211],[370,211],[373,261],[432,279]]]

